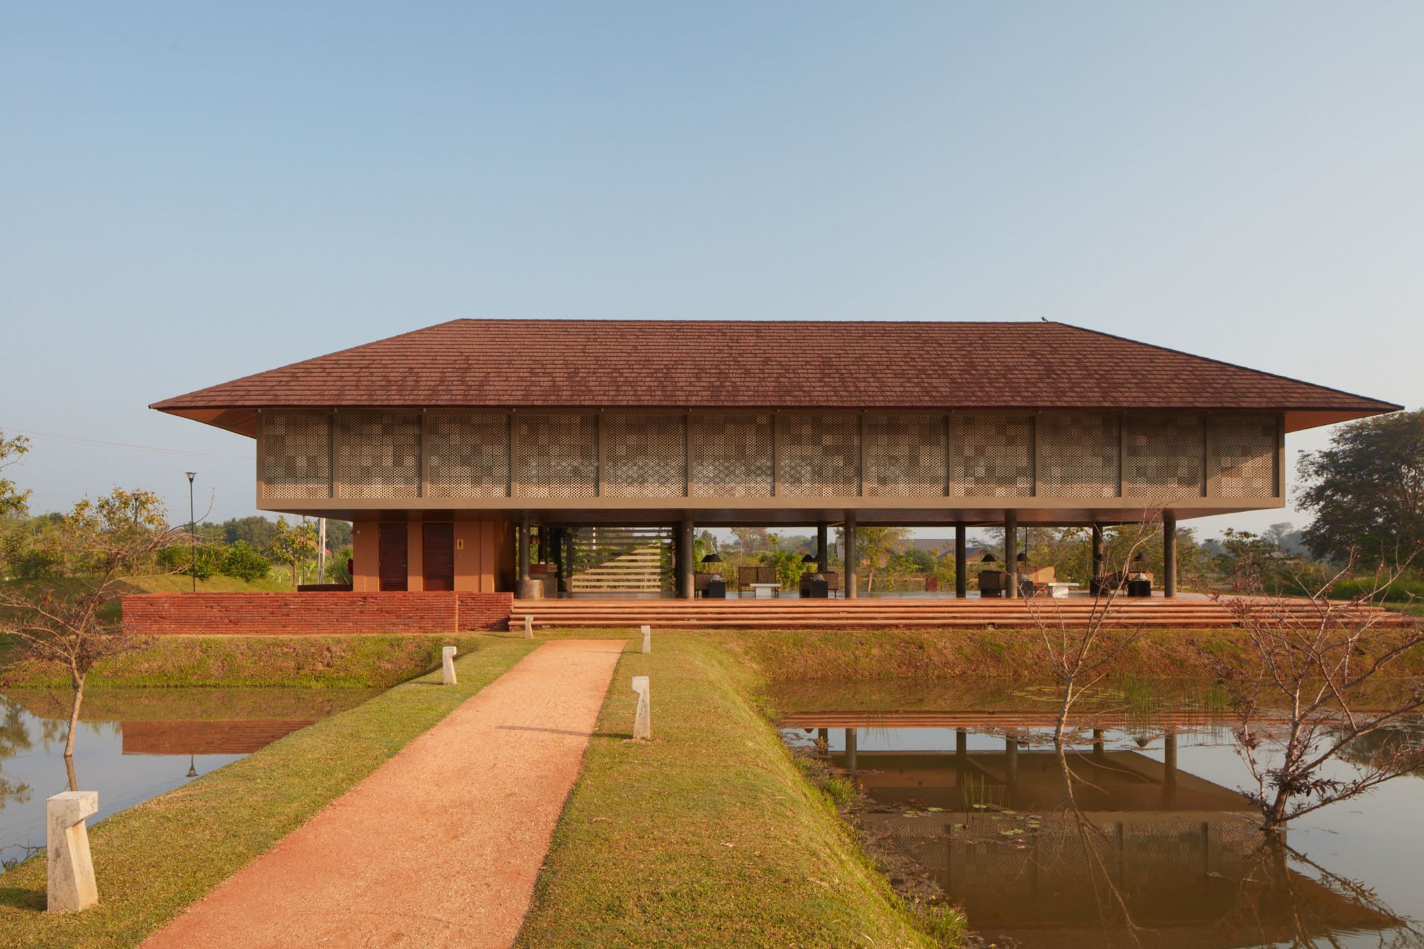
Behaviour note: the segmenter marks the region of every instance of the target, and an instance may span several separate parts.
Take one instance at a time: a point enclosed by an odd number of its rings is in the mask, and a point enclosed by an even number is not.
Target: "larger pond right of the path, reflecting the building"
[[[891,882],[931,879],[990,943],[1424,945],[1421,777],[1273,846],[1209,684],[1118,688],[1062,754],[1047,691],[806,683],[773,702],[787,744],[859,785],[854,819]]]

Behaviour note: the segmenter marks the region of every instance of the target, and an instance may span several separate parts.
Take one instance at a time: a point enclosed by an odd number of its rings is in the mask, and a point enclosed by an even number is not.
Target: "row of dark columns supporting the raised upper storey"
[[[816,524],[816,564],[824,573],[830,564],[830,550],[827,546],[826,523]],[[676,594],[682,600],[691,600],[693,594],[692,574],[696,571],[692,547],[692,519],[684,519],[678,524],[676,537]],[[846,583],[844,596],[856,598],[856,516],[847,513],[843,526],[843,540],[846,547]],[[530,577],[530,517],[521,514],[518,529],[518,590],[517,596],[533,597],[534,581]],[[968,563],[967,563],[965,524],[954,524],[954,596],[964,598],[968,596]],[[1104,564],[1102,524],[1092,526],[1092,576],[1101,576]],[[1004,512],[1004,573],[1007,576],[1005,596],[1018,596],[1018,512]],[[1162,596],[1176,596],[1176,514],[1162,513]]]

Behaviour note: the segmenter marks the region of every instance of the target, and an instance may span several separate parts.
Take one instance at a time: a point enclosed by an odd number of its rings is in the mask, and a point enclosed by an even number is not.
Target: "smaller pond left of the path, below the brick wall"
[[[350,708],[372,690],[88,690],[74,745],[80,788],[98,816],[131,808]],[[0,861],[44,849],[44,801],[68,791],[70,693],[0,694]]]

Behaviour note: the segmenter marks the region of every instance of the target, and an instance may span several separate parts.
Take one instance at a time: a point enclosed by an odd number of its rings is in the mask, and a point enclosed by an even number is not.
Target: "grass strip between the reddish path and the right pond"
[[[628,741],[631,675],[651,677],[646,744]],[[518,945],[933,945],[803,778],[758,687],[706,634],[624,654]]]

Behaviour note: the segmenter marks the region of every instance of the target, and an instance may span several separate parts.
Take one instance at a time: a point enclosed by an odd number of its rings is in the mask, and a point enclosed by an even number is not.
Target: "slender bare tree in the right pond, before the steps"
[[[1125,617],[1118,604],[1128,587],[1132,576],[1132,564],[1142,549],[1161,536],[1153,512],[1143,512],[1142,519],[1129,529],[1128,544],[1121,547],[1121,561],[1111,559],[1101,571],[1095,564],[1094,573],[1098,583],[1094,587],[1092,607],[1087,616],[1081,611],[1068,611],[1062,603],[1054,598],[1037,600],[1028,597],[1024,607],[1038,630],[1044,645],[1044,657],[1054,678],[1058,680],[1058,717],[1054,722],[1054,742],[1061,744],[1064,730],[1068,727],[1068,717],[1082,694],[1104,678],[1111,671],[1112,661],[1131,647],[1142,636],[1141,627],[1131,627],[1124,623]],[[1119,631],[1116,636],[1114,633]]]

